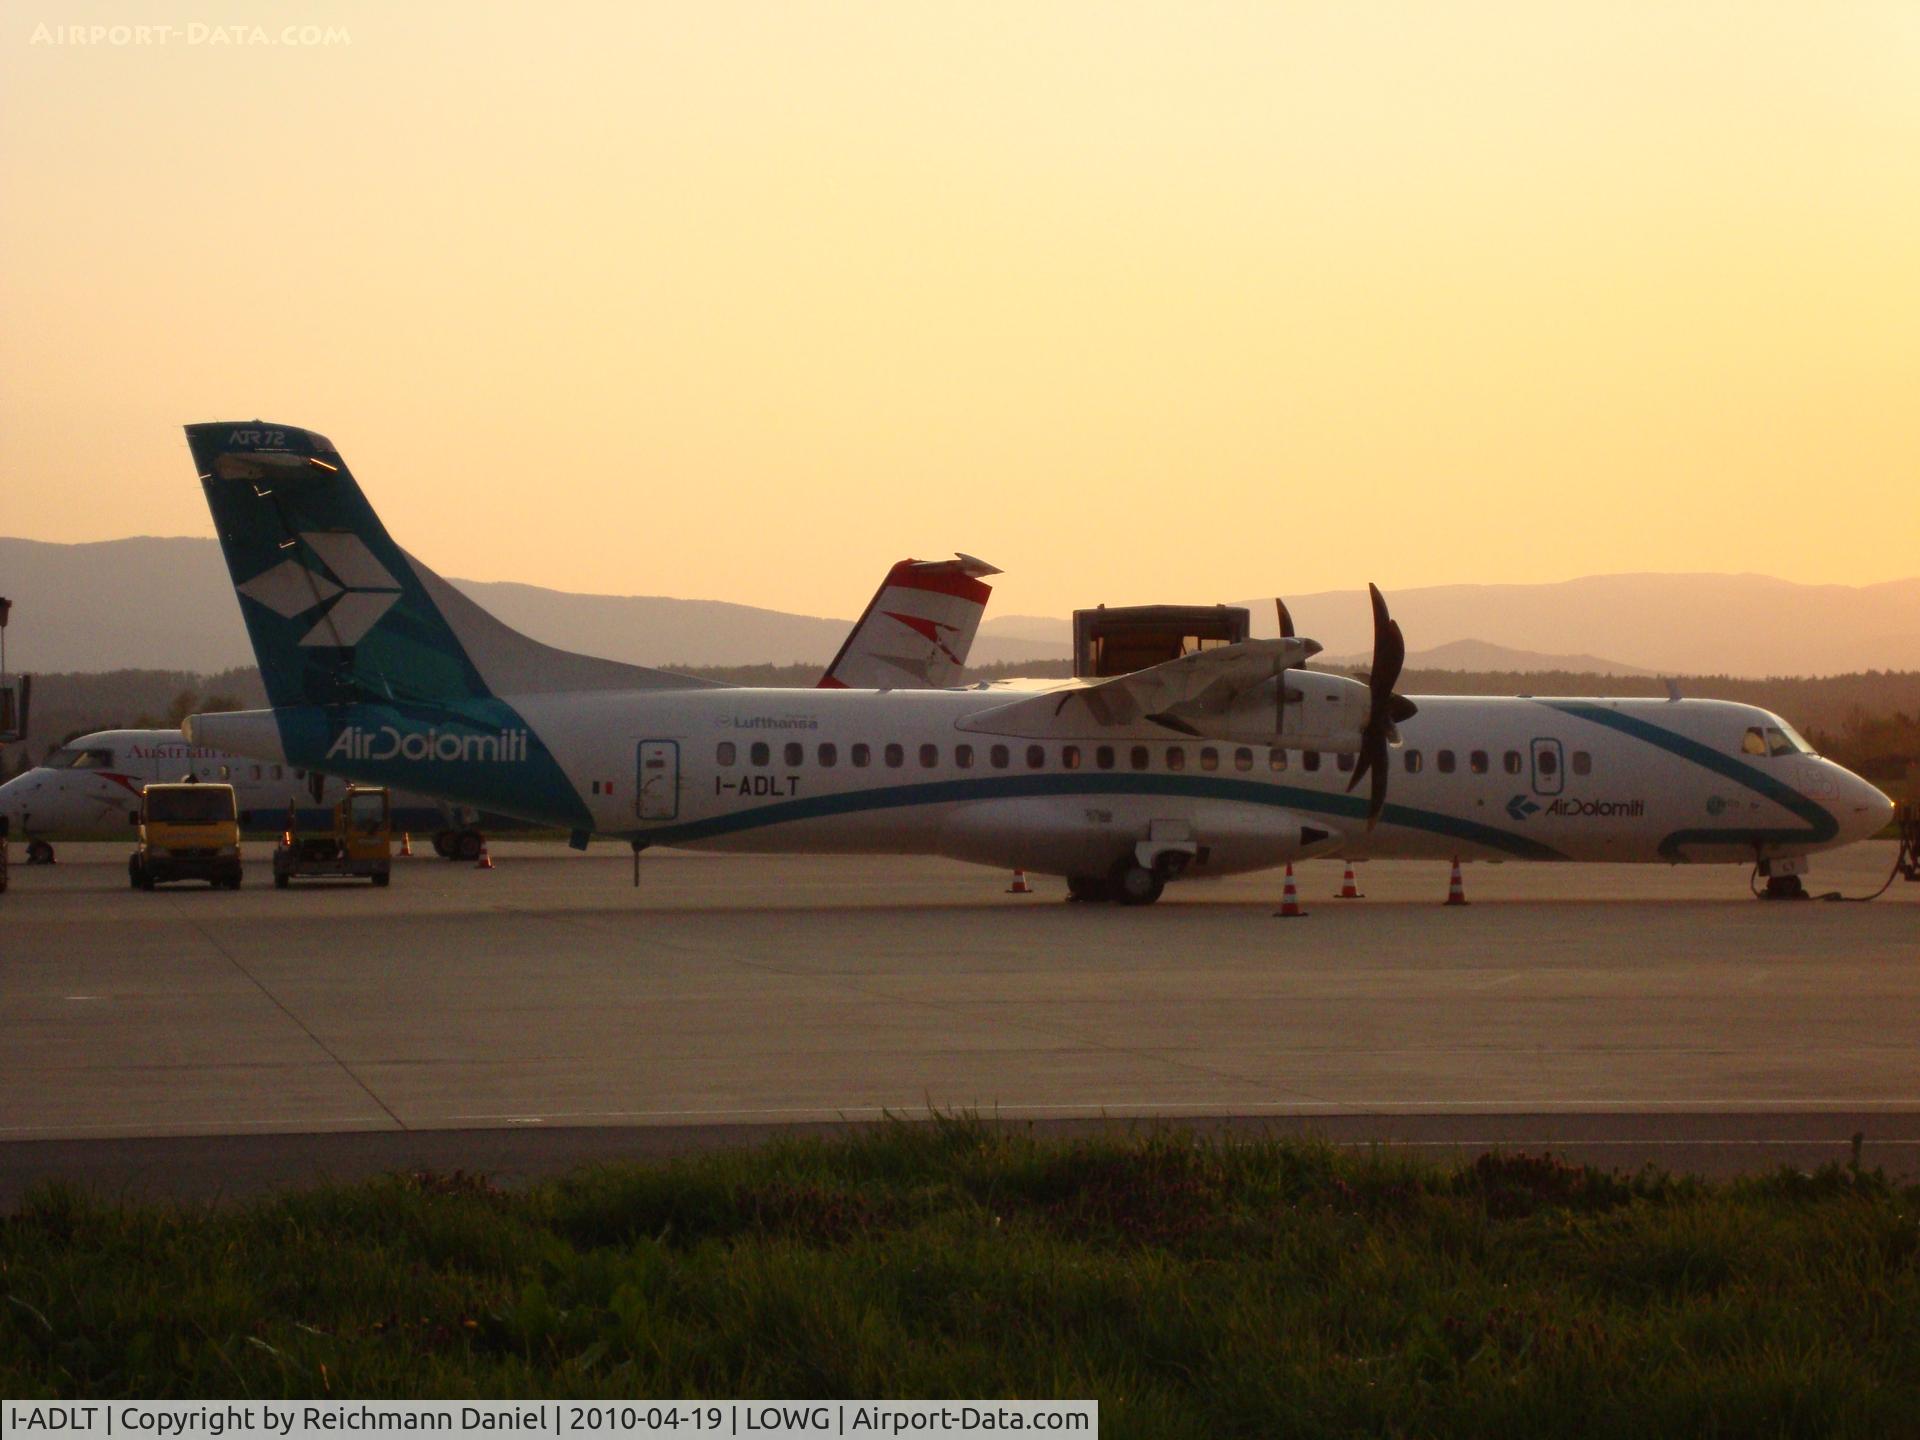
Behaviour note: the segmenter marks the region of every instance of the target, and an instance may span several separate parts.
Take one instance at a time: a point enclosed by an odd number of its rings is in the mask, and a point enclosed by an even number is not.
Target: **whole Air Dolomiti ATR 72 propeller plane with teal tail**
[[[311,430],[186,438],[273,703],[194,716],[194,743],[578,845],[945,854],[1142,904],[1179,876],[1321,854],[1761,862],[1797,887],[1807,854],[1893,812],[1747,705],[1396,695],[1379,591],[1369,684],[1300,668],[1319,645],[1292,636],[973,689],[737,689],[597,660],[401,551]]]

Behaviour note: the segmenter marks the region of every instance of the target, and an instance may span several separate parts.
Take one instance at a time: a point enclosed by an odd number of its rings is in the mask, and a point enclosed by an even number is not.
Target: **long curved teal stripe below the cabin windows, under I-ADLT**
[[[1365,824],[1367,801],[1361,795],[1340,795],[1298,785],[1271,785],[1252,780],[1223,780],[1210,776],[1160,776],[1160,774],[1043,774],[1043,776],[981,776],[979,780],[933,780],[922,785],[881,785],[876,789],[845,791],[839,795],[814,795],[804,801],[783,801],[762,804],[733,814],[668,824],[649,829],[630,831],[634,839],[653,845],[684,845],[687,841],[714,839],[718,835],[737,835],[745,829],[783,826],[795,820],[822,820],[828,816],[862,814],[868,810],[899,810],[916,804],[954,804],[966,801],[1012,801],[1048,795],[1171,795],[1200,801],[1235,801],[1240,804],[1265,804],[1275,810],[1300,810],[1313,816],[1331,816]],[[1380,816],[1382,824],[1405,829],[1425,829],[1434,835],[1448,835],[1492,851],[1503,851],[1519,860],[1565,860],[1567,856],[1549,845],[1515,835],[1496,826],[1482,826],[1475,820],[1417,810],[1407,804],[1388,804]]]

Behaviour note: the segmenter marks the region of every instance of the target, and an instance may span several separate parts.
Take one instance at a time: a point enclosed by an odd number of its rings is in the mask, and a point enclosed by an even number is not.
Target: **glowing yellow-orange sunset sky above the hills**
[[[0,534],[211,534],[257,415],[447,574],[822,614],[1914,574],[1916,77],[1910,0],[27,0]]]

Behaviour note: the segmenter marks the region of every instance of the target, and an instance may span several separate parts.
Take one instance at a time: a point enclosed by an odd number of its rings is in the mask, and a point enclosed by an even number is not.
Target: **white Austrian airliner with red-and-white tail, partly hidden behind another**
[[[987,597],[985,561],[900,561],[887,570],[866,612],[847,632],[820,685],[914,689],[947,685],[966,666]],[[280,829],[288,804],[296,826],[323,828],[346,781],[284,760],[257,760],[188,743],[179,730],[96,730],[61,745],[44,764],[0,785],[0,816],[27,841],[29,864],[52,864],[58,833],[123,831],[140,808],[140,789],[167,780],[234,787],[242,829]],[[394,795],[394,828],[434,837],[451,860],[480,854],[478,816],[424,795]]]

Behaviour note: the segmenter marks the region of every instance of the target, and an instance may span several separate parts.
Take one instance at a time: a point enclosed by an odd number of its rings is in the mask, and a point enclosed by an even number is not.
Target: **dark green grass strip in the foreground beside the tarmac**
[[[1062,1396],[1110,1436],[1920,1432],[1920,1190],[968,1117],[0,1221],[0,1394]]]

